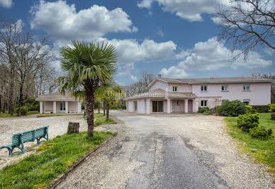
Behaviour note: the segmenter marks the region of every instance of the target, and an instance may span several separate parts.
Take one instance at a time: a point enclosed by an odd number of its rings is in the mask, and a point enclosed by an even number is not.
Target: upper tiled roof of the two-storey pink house
[[[188,78],[188,79],[172,79],[172,78],[157,78],[166,82],[181,82],[181,83],[216,83],[216,82],[272,82],[271,79],[259,77],[213,77],[213,78]]]

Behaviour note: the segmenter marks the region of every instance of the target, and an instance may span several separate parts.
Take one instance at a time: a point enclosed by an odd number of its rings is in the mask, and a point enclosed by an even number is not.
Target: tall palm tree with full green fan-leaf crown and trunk
[[[113,45],[99,43],[79,43],[72,41],[74,47],[62,47],[61,68],[64,77],[58,78],[60,92],[84,99],[87,115],[88,136],[94,131],[94,92],[101,82],[112,80],[118,54]]]

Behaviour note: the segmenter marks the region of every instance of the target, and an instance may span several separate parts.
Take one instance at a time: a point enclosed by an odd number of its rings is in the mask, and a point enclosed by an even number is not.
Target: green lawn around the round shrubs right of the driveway
[[[273,130],[275,136],[275,121],[271,120],[271,114],[259,114],[259,124],[266,126],[267,129]],[[270,171],[275,175],[275,138],[262,141],[254,139],[250,134],[241,131],[237,127],[237,117],[226,117],[225,122],[232,138],[240,141],[240,148],[257,163],[265,163],[270,166]]]

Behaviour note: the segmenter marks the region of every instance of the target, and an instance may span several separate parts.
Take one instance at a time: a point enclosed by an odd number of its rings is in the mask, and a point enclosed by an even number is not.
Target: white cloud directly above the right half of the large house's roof
[[[196,43],[184,60],[168,70],[163,68],[160,73],[164,77],[177,77],[177,75],[185,75],[186,70],[218,70],[240,67],[252,69],[272,65],[272,60],[263,59],[262,55],[255,51],[251,51],[247,55],[247,59],[241,55],[240,58],[232,61],[238,53],[241,51],[236,50],[231,53],[223,41],[219,42],[217,38],[210,38],[208,41]]]

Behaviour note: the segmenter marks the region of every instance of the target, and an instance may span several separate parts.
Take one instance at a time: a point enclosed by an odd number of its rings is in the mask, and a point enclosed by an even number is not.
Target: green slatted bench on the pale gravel
[[[24,143],[28,141],[35,141],[36,139],[38,144],[40,144],[42,142],[40,141],[41,139],[48,140],[49,138],[47,133],[48,129],[49,129],[49,126],[47,125],[31,131],[13,134],[13,136],[11,137],[11,144],[6,146],[1,146],[0,149],[8,148],[9,156],[13,155],[14,148],[19,148],[21,150],[21,153],[25,153]]]

